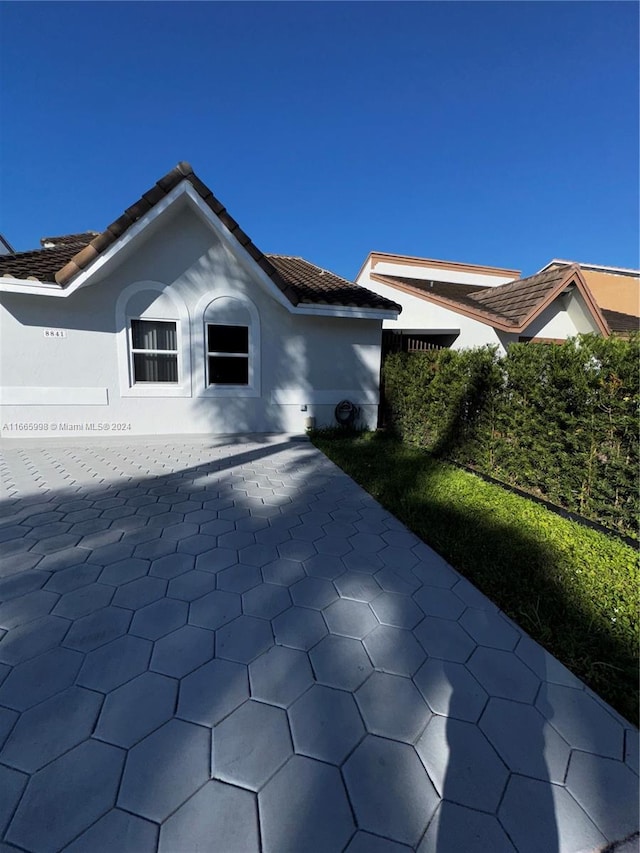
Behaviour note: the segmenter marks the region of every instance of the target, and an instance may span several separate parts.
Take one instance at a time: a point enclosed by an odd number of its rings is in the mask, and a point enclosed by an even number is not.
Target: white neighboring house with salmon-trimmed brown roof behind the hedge
[[[576,266],[528,278],[518,270],[372,252],[356,281],[399,302],[384,323],[384,350],[560,341],[610,329]]]

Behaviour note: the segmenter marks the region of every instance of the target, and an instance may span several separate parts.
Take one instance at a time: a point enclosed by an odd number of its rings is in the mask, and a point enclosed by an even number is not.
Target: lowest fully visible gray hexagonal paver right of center
[[[413,747],[368,735],[346,761],[343,774],[361,829],[403,844],[418,843],[439,801]]]

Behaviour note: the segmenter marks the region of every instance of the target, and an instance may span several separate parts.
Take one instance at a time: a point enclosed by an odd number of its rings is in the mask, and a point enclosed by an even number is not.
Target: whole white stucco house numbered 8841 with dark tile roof
[[[400,307],[264,255],[187,163],[105,231],[0,257],[2,436],[375,427]]]

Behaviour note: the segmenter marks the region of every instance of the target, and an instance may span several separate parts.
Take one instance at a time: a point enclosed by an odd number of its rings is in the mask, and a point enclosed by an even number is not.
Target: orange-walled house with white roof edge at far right
[[[613,334],[624,335],[638,331],[640,270],[583,264],[554,258],[540,272],[569,266],[579,267]]]

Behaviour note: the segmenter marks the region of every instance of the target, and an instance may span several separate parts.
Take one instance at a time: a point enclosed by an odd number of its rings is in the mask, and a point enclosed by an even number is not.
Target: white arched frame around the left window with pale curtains
[[[129,303],[143,291],[157,291],[163,295],[165,308],[158,310],[150,305],[142,313],[129,310]],[[168,305],[166,304],[168,303]],[[118,352],[118,377],[121,397],[191,397],[191,334],[190,318],[182,297],[166,284],[158,281],[138,281],[126,287],[116,303],[116,346]],[[152,320],[176,324],[178,346],[177,382],[135,382],[133,372],[132,320]],[[167,352],[167,350],[162,350]]]

